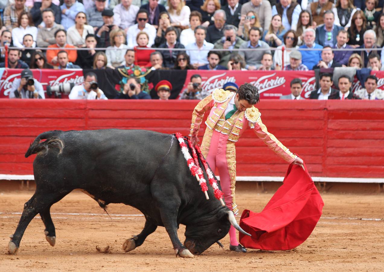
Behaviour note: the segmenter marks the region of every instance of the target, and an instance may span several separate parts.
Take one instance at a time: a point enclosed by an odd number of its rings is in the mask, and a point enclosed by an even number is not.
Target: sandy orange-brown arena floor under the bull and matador
[[[288,251],[230,252],[212,245],[194,259],[175,258],[163,227],[141,247],[129,253],[122,243],[144,226],[144,217],[132,207],[110,204],[110,219],[98,204],[81,192],[72,192],[53,205],[56,245],[45,240],[44,225],[36,216],[25,231],[18,255],[7,254],[9,235],[20,219],[23,204],[33,191],[0,192],[0,271],[383,271],[384,194],[323,193],[323,216],[312,235]],[[261,211],[271,193],[237,191],[240,211]],[[179,229],[184,241],[184,226]],[[111,246],[101,254],[96,246]]]

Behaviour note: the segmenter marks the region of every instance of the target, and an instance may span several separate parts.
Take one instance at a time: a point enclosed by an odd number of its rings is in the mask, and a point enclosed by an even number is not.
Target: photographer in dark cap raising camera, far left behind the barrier
[[[31,70],[25,69],[21,73],[21,78],[13,81],[9,98],[45,99],[43,85],[33,78]]]

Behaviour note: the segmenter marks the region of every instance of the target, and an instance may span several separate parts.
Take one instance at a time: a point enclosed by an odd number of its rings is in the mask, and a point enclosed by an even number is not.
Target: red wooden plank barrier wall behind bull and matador
[[[38,134],[51,129],[149,129],[187,135],[196,103],[0,99],[0,174],[32,174],[34,156],[24,158],[25,151]],[[257,107],[268,130],[306,161],[313,176],[384,176],[382,101],[263,100]],[[286,168],[252,130],[238,141],[238,176],[283,176]]]

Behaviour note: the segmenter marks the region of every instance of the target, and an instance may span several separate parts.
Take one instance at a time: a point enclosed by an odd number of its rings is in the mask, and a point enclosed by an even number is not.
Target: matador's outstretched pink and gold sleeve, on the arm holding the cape
[[[275,135],[268,132],[260,117],[257,119],[257,122],[253,124],[255,125],[253,131],[255,131],[256,135],[262,139],[270,149],[288,163],[293,163],[293,161],[295,161],[297,156],[276,139]]]

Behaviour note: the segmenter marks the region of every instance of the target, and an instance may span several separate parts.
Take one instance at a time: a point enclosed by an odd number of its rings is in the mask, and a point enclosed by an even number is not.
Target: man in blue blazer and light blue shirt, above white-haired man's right
[[[324,24],[319,25],[316,28],[316,40],[315,43],[322,46],[331,46],[333,47],[336,43],[336,36],[339,31],[344,29],[343,27],[339,27],[334,24],[335,17],[332,10],[327,10],[324,15]]]

